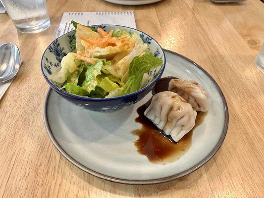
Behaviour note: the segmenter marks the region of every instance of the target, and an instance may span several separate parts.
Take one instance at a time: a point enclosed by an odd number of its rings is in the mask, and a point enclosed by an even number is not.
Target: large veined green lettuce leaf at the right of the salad
[[[163,61],[151,52],[147,52],[141,57],[136,56],[130,63],[126,84],[122,88],[110,91],[106,98],[122,96],[139,90],[144,73],[148,73],[150,69],[156,68],[162,63]]]

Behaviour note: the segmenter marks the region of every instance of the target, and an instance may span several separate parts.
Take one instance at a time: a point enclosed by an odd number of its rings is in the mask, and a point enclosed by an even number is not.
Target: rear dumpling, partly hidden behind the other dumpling
[[[172,79],[169,82],[169,91],[175,92],[189,102],[196,111],[208,111],[209,94],[205,88],[191,80]]]

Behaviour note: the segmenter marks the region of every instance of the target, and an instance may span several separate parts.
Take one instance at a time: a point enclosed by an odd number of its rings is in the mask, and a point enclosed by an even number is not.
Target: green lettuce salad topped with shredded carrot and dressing
[[[72,52],[51,75],[68,93],[92,98],[130,94],[146,85],[150,69],[163,63],[135,33],[118,28],[107,33],[72,24],[76,38],[71,42]]]

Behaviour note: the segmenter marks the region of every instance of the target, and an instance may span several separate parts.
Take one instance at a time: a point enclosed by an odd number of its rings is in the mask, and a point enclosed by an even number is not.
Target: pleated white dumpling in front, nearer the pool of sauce
[[[144,115],[178,142],[194,127],[197,112],[178,94],[165,91],[154,95]]]

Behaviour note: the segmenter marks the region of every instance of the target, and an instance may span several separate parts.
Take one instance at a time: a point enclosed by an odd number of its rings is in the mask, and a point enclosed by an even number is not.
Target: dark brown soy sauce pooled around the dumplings
[[[154,94],[168,90],[168,82],[175,77],[161,78],[153,90]],[[179,142],[173,143],[163,134],[158,128],[144,116],[144,111],[150,105],[151,100],[143,104],[137,109],[139,116],[135,119],[136,122],[142,124],[140,129],[132,131],[132,134],[137,135],[139,138],[135,141],[137,151],[148,157],[152,163],[166,164],[179,159],[192,144],[193,130],[203,123],[207,112],[198,112],[195,120],[194,128],[187,133]]]

